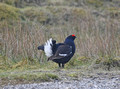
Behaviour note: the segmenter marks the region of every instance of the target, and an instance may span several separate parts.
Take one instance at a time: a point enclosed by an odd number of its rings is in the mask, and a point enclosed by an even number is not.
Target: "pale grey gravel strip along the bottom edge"
[[[120,89],[120,78],[84,78],[79,81],[54,81],[5,86],[4,89]]]

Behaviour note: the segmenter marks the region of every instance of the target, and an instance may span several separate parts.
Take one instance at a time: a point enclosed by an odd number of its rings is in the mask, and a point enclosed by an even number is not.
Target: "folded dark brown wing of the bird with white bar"
[[[72,54],[72,46],[69,45],[60,45],[55,53],[54,56],[52,56],[52,58],[50,58],[50,60],[54,60],[54,59],[61,59],[64,57],[69,56],[70,54]]]

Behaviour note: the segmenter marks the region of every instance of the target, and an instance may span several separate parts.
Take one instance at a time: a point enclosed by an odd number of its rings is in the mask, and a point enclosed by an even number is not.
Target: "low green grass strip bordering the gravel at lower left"
[[[40,82],[48,82],[52,80],[58,80],[59,77],[55,74],[51,73],[14,73],[7,75],[0,75],[1,82],[0,85],[4,84],[20,84],[20,83],[40,83]],[[2,84],[1,84],[2,83]]]

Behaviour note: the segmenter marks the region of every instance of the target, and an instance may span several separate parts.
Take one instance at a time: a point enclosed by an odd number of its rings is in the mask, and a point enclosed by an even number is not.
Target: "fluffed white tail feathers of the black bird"
[[[44,45],[44,51],[45,51],[45,55],[47,57],[51,57],[53,55],[52,53],[52,38],[50,38],[49,40],[47,40],[47,42]]]

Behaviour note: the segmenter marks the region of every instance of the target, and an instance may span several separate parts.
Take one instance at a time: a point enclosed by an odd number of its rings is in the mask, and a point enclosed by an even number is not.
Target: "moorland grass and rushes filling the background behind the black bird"
[[[77,36],[77,50],[65,69],[120,70],[120,0],[0,0],[0,84],[57,78],[16,72],[56,69],[37,47],[69,34]]]

